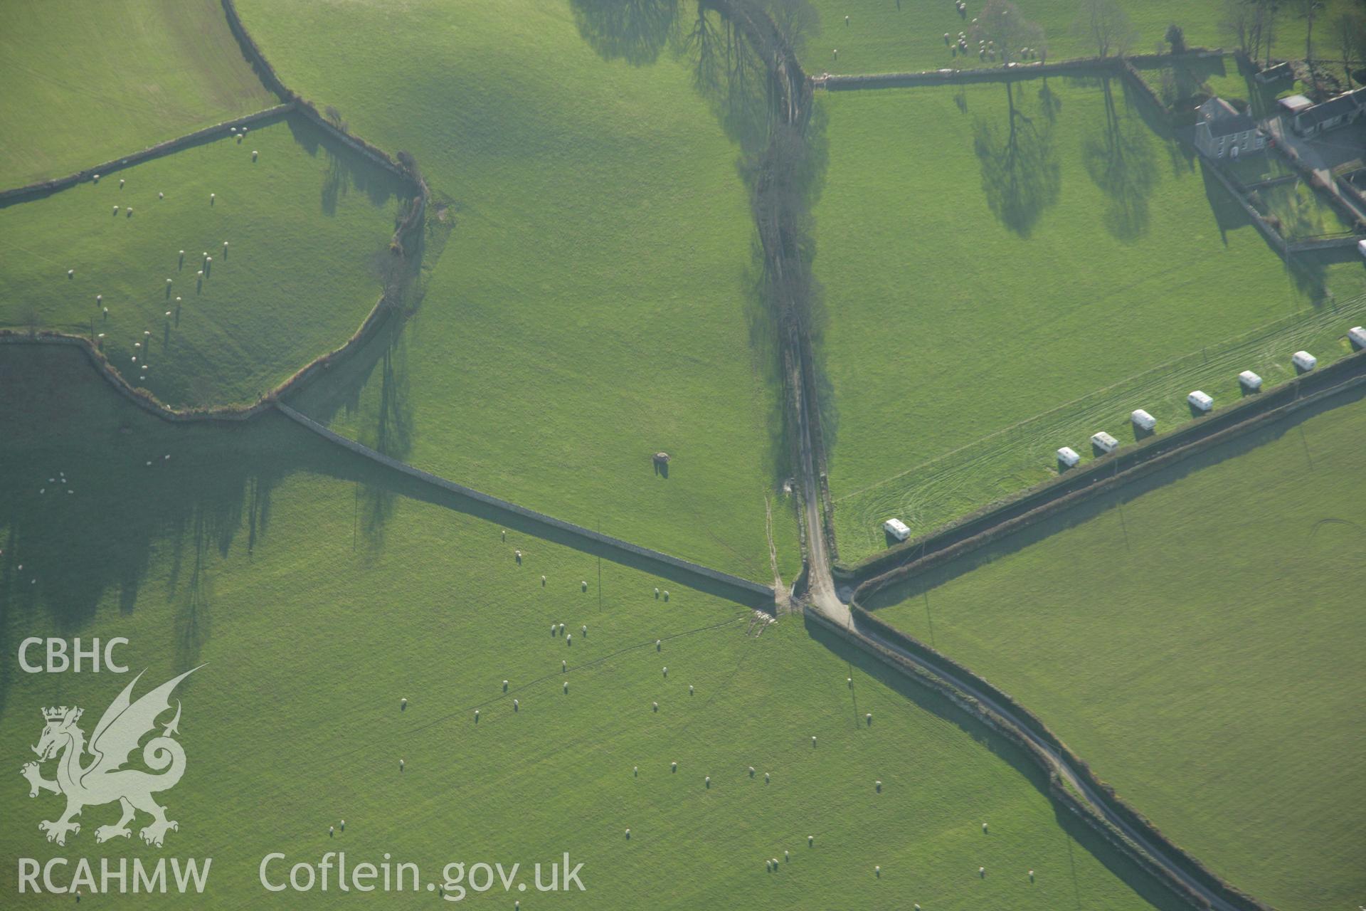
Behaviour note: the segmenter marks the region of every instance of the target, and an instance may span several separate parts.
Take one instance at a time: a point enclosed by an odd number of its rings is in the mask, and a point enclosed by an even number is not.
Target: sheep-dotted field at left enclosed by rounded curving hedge
[[[0,209],[0,322],[102,333],[172,406],[250,402],[361,325],[406,193],[302,119],[191,146]]]

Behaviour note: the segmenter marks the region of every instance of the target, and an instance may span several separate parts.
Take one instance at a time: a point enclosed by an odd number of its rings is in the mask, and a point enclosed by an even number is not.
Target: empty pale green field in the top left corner
[[[269,108],[217,0],[0,5],[0,188]]]

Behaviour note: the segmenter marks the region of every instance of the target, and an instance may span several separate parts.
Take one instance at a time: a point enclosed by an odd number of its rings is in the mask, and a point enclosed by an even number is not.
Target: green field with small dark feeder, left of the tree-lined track
[[[242,14],[288,85],[413,152],[454,225],[385,367],[299,407],[460,483],[759,580],[770,508],[791,580],[739,146],[665,33],[628,41],[597,4],[548,0]]]

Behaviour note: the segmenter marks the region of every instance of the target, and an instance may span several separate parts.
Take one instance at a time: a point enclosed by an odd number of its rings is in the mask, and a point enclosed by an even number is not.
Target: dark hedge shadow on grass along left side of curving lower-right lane
[[[896,692],[906,701],[907,712],[928,712],[937,718],[955,724],[963,733],[973,738],[978,746],[992,755],[1007,762],[1015,772],[1022,774],[1034,788],[1049,796],[1049,777],[1020,747],[1015,746],[1000,733],[996,733],[985,724],[970,716],[963,709],[948,701],[937,691],[910,680],[906,675],[888,667],[862,649],[855,647],[825,627],[806,621],[807,634],[822,646],[833,651],[841,661],[858,668],[887,688]],[[910,761],[910,759],[908,759]],[[1055,819],[1063,829],[1065,837],[1087,851],[1100,860],[1116,878],[1131,888],[1145,901],[1162,911],[1179,911],[1187,906],[1172,892],[1117,851],[1109,841],[1096,830],[1076,818],[1060,803],[1050,799]]]

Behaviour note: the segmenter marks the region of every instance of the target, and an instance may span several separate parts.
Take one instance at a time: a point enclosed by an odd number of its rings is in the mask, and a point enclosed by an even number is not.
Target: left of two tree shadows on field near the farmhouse
[[[1026,87],[1004,83],[1004,126],[979,117],[973,127],[973,152],[982,171],[986,205],[1001,224],[1027,238],[1044,212],[1057,204],[1061,168],[1053,127],[1037,105],[1026,101]],[[1018,97],[1016,97],[1018,96]]]

